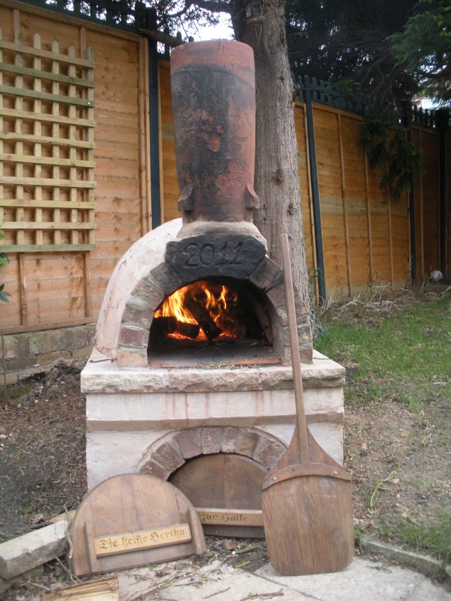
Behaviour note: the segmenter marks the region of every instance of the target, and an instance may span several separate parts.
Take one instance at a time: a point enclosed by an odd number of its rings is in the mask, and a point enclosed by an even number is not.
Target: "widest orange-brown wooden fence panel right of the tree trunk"
[[[368,168],[361,117],[313,106],[327,296],[352,297],[377,283],[405,286],[407,194],[394,202],[391,190],[380,189],[384,172]]]

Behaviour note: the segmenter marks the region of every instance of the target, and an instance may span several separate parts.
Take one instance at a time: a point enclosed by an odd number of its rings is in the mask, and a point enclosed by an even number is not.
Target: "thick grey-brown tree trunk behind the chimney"
[[[261,207],[254,222],[268,242],[271,259],[282,265],[280,235],[290,239],[293,283],[309,304],[303,218],[300,206],[298,142],[294,125],[294,85],[288,62],[284,2],[264,1],[264,21],[244,20],[244,2],[232,1],[235,35],[255,55],[255,191]]]

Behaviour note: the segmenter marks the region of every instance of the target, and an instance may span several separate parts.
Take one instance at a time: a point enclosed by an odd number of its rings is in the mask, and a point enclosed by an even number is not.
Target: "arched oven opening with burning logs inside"
[[[248,281],[207,277],[178,288],[153,314],[148,339],[152,362],[163,357],[198,363],[279,363],[272,352],[269,303]]]

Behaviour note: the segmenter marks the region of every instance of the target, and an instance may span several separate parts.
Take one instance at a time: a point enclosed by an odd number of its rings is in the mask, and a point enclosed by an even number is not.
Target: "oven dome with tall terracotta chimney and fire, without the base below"
[[[187,44],[171,55],[182,213],[175,238],[130,249],[99,317],[97,348],[121,367],[289,363],[282,272],[253,224],[253,51],[236,42]],[[112,307],[114,322],[108,319]],[[297,302],[300,351],[312,360],[307,307]]]

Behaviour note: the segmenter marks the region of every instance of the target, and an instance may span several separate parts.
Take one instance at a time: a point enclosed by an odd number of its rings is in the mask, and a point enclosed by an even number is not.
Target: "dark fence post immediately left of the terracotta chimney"
[[[156,28],[156,13],[154,8],[146,10],[146,29]],[[161,189],[160,189],[160,123],[158,115],[158,52],[157,42],[148,42],[148,121],[150,128],[151,153],[151,207],[152,229],[161,225]]]

